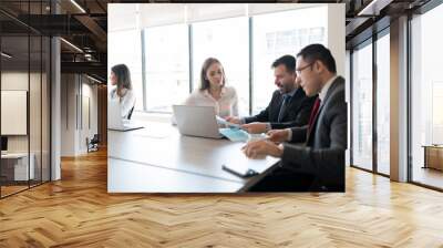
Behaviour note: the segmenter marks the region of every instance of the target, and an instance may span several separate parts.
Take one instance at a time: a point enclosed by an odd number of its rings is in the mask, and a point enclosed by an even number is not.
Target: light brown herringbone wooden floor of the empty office
[[[0,247],[443,247],[443,194],[354,168],[346,194],[109,195],[106,154],[0,200]]]

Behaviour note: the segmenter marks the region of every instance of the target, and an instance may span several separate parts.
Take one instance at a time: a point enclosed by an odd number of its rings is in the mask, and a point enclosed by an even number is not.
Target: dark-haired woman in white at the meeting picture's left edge
[[[122,118],[130,118],[135,106],[135,94],[132,91],[131,73],[125,64],[117,64],[111,69],[111,100],[119,100]]]

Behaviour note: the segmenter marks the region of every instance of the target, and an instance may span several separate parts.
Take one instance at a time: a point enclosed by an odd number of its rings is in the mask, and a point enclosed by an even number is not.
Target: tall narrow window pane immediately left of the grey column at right
[[[390,39],[377,40],[377,170],[390,174]]]

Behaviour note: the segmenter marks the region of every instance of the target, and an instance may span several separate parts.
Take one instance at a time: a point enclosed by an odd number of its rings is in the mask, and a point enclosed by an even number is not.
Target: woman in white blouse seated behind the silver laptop
[[[226,76],[222,63],[208,58],[200,71],[200,86],[185,101],[186,105],[214,106],[220,117],[238,116],[238,97],[234,87],[225,86]]]

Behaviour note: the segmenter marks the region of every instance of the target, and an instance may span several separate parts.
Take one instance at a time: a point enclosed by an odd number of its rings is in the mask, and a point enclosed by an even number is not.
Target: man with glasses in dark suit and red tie
[[[269,141],[251,142],[244,147],[248,157],[281,157],[280,167],[251,190],[344,192],[344,80],[337,76],[336,61],[321,44],[308,45],[298,53],[297,73],[306,94],[319,94],[319,99],[307,126],[271,131]]]

